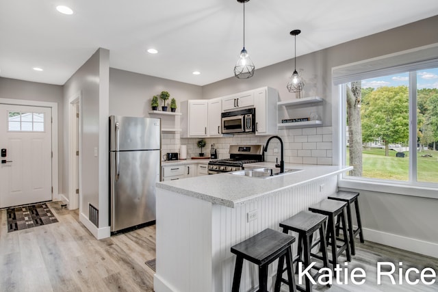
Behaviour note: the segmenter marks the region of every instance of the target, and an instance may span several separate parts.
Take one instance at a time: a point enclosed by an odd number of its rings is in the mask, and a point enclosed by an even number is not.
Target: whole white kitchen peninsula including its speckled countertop
[[[273,168],[273,163],[246,166]],[[157,183],[154,290],[231,290],[235,263],[231,246],[266,228],[279,230],[281,220],[336,191],[337,174],[352,169],[339,165],[285,168],[302,171],[272,178],[224,173]],[[257,286],[256,270],[244,263],[243,291]],[[270,268],[269,274],[274,272]]]

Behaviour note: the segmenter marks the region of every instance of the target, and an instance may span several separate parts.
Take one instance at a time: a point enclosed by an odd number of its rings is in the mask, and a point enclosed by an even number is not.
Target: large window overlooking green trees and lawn
[[[354,167],[344,178],[437,187],[438,68],[376,72],[341,86],[341,155]]]

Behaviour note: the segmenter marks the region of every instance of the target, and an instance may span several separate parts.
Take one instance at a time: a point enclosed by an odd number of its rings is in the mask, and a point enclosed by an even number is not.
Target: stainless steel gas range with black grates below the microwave
[[[246,163],[264,160],[263,145],[230,145],[230,158],[212,160],[208,163],[208,174],[242,170]]]

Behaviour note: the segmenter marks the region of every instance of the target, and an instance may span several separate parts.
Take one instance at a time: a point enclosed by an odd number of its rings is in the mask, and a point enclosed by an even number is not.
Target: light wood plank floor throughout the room
[[[59,202],[49,207],[58,223],[12,233],[6,226],[6,211],[0,211],[0,291],[153,291],[154,272],[145,262],[155,258],[155,226],[98,241],[79,222],[77,211],[61,209]],[[378,261],[394,263],[397,269],[402,262],[404,270],[433,267],[437,271],[438,258],[368,241],[357,243],[357,254],[348,267],[364,269],[365,284],[315,285],[313,291],[438,291],[438,282],[427,286],[404,281],[400,286],[386,277],[383,284],[376,284]]]

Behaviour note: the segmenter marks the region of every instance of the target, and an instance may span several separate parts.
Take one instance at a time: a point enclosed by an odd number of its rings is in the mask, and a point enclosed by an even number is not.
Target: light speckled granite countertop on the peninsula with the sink
[[[261,162],[250,163],[247,166],[251,168],[257,166],[274,168],[274,164],[272,162]],[[270,196],[282,189],[295,187],[352,169],[351,166],[342,165],[304,164],[286,164],[285,168],[296,168],[303,171],[263,179],[229,173],[213,174],[160,182],[157,183],[157,188],[234,208],[263,196]]]

